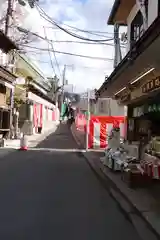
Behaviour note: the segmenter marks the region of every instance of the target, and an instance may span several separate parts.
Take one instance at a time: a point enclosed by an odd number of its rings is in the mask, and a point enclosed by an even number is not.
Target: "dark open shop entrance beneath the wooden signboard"
[[[128,106],[128,140],[160,136],[160,94]]]

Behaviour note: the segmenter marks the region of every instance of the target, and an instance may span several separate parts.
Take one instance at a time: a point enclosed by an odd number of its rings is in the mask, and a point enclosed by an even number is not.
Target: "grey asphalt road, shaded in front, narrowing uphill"
[[[38,147],[0,160],[0,239],[140,240],[65,126]]]

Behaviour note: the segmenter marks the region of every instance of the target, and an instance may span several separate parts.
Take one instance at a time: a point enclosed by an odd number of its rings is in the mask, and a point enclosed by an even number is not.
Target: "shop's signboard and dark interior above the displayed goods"
[[[143,82],[130,93],[128,105],[128,134],[132,141],[151,140],[159,135],[160,130],[160,77],[154,77]]]

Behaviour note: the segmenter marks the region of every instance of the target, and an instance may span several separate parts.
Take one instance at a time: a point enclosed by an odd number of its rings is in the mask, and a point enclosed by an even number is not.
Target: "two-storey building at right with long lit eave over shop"
[[[115,0],[108,24],[127,26],[127,54],[97,94],[127,105],[128,140],[147,142],[160,136],[160,1]]]

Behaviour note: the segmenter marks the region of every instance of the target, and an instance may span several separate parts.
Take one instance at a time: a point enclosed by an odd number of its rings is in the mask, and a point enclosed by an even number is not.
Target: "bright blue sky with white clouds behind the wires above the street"
[[[69,29],[78,35],[90,39],[113,38],[113,27],[107,26],[107,19],[114,0],[39,0],[38,5],[45,10],[54,21],[60,23],[64,28]],[[24,18],[24,28],[35,32],[42,37],[54,41],[81,41],[76,39],[40,16],[37,8],[25,8],[27,14]],[[29,10],[28,10],[29,9]],[[23,14],[24,16],[24,14]],[[91,35],[84,32],[76,32],[66,26],[70,25],[83,30],[100,31],[97,33],[103,36]],[[113,41],[107,42],[113,44]],[[36,50],[27,47],[27,54],[47,77],[53,77],[56,73],[62,82],[63,68],[66,65],[66,79],[69,84],[74,85],[74,91],[81,92],[89,89],[99,88],[104,82],[106,75],[113,71],[114,47],[110,45],[93,45],[78,43],[54,43],[56,51],[70,52],[92,57],[108,58],[110,60],[93,60],[69,55],[48,53],[47,49],[52,45],[46,41],[35,40],[28,44],[30,47],[46,49],[46,51]],[[57,67],[55,56],[59,64]],[[53,64],[50,62],[52,59]]]

